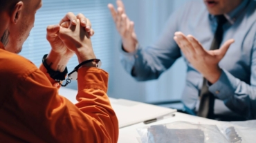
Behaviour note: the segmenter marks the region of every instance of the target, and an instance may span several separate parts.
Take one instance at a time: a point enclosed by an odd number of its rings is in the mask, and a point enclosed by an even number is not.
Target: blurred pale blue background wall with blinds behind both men
[[[163,26],[174,10],[189,0],[123,0],[126,12],[135,23],[140,45],[153,44],[163,31]],[[185,84],[186,66],[182,58],[161,75],[149,82],[136,82],[120,64],[121,39],[114,26],[108,3],[114,0],[43,0],[43,7],[36,14],[35,27],[24,44],[21,55],[33,61],[37,66],[44,54],[51,50],[46,41],[46,27],[59,23],[66,12],[75,15],[82,12],[91,20],[95,35],[92,37],[95,55],[102,60],[102,68],[109,72],[109,97],[125,98],[139,102],[156,102],[180,99]],[[68,63],[71,72],[77,65],[74,56]],[[76,82],[67,88],[77,89]]]

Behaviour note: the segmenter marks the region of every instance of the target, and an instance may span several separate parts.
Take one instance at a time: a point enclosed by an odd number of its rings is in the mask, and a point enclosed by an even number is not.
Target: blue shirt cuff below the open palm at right
[[[235,90],[238,86],[237,78],[228,73],[228,71],[221,71],[221,77],[219,80],[209,86],[210,92],[221,100],[228,99],[230,96],[235,94]]]

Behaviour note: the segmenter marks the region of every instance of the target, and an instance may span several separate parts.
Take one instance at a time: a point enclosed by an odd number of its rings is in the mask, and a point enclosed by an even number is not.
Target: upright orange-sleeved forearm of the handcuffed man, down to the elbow
[[[118,120],[107,97],[108,76],[98,68],[80,68],[77,79],[78,103],[75,105],[104,127],[103,131],[98,132],[102,134],[98,135],[101,139],[109,137],[111,142],[117,142]]]

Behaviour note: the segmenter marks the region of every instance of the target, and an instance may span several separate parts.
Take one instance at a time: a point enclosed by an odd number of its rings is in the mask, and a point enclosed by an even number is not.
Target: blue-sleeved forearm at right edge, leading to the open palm
[[[240,79],[237,79],[228,71],[222,70],[219,80],[209,87],[210,92],[230,110],[243,115],[248,120],[256,119],[256,88]]]

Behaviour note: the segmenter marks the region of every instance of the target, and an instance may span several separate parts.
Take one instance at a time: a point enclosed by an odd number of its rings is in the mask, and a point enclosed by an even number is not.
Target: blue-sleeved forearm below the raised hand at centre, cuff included
[[[138,46],[136,53],[122,53],[121,62],[125,70],[138,81],[157,79],[161,73],[181,57],[179,48],[166,47],[166,44],[142,48]]]

